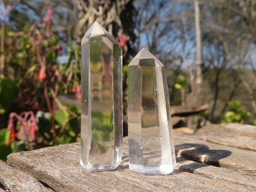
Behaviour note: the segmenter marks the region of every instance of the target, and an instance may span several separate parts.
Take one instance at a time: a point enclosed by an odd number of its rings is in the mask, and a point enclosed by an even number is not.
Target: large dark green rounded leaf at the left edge
[[[11,79],[0,80],[0,114],[7,111],[13,100],[18,96],[20,90],[19,84]]]

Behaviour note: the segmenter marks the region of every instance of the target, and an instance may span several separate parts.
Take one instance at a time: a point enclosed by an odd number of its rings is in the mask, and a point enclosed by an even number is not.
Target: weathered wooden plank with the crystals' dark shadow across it
[[[176,157],[256,176],[256,152],[198,140],[197,135],[175,135]]]

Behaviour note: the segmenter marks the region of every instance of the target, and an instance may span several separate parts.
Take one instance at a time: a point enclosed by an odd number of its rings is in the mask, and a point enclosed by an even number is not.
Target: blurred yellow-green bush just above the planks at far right
[[[251,115],[250,112],[247,112],[241,107],[238,101],[230,101],[228,107],[230,111],[225,113],[221,123],[244,123],[244,120]]]

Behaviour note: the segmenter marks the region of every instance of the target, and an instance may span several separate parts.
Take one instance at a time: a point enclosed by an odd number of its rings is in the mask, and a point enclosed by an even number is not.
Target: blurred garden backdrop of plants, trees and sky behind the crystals
[[[143,47],[166,67],[174,130],[256,125],[256,0],[0,0],[0,159],[80,141],[80,42],[95,20],[123,49],[124,136]]]

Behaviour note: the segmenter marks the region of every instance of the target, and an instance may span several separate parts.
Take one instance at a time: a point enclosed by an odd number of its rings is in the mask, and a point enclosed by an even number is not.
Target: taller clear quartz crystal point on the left
[[[81,160],[89,172],[122,157],[122,49],[97,22],[81,41]]]

